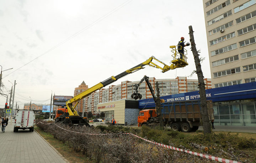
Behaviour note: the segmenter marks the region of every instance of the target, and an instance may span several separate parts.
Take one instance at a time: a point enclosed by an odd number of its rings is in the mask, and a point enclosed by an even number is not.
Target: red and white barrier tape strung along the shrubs
[[[42,122],[38,122],[38,123],[42,123]],[[43,124],[52,124],[52,123],[43,123]],[[53,123],[53,124],[55,124],[55,123]],[[57,127],[59,127],[57,124],[55,124],[55,125]],[[69,132],[78,133],[78,134],[84,134],[84,135],[113,135],[113,134],[86,134],[86,133],[79,133],[79,132],[76,132],[76,131],[70,131],[70,130],[64,129],[62,127],[59,127],[59,128],[61,128],[63,130],[66,130],[66,131],[69,131]],[[210,155],[206,155],[206,154],[202,154],[202,153],[197,153],[197,152],[193,152],[193,151],[183,150],[181,148],[176,148],[176,147],[172,147],[172,146],[169,146],[169,145],[164,145],[164,144],[161,144],[161,143],[158,143],[158,142],[154,142],[154,141],[150,141],[150,140],[144,139],[144,138],[139,137],[138,135],[135,135],[133,133],[121,133],[121,134],[132,135],[132,136],[138,137],[139,139],[142,139],[144,141],[150,142],[152,144],[159,145],[161,147],[169,148],[171,150],[176,150],[176,151],[180,151],[180,152],[194,154],[196,156],[207,158],[207,159],[211,159],[211,160],[218,161],[218,162],[223,162],[223,163],[241,163],[241,162],[232,161],[232,160],[225,159],[225,158],[210,156]]]

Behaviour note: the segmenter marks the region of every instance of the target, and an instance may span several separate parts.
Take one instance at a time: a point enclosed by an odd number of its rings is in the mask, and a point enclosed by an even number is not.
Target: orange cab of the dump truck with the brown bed
[[[154,121],[154,118],[157,117],[155,109],[145,109],[139,112],[138,116],[138,127],[146,125],[150,121]]]

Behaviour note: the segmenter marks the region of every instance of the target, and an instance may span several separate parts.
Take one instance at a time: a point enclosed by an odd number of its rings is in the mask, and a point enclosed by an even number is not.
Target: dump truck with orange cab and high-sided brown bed
[[[213,114],[212,101],[207,101],[208,116]],[[161,103],[161,115],[165,125],[172,130],[190,132],[201,125],[202,115],[200,100]],[[138,127],[158,125],[156,109],[145,109],[139,112]]]

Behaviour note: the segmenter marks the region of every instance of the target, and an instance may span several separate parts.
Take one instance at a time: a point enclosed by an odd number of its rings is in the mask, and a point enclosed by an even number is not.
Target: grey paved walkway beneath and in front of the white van
[[[0,163],[65,163],[62,158],[35,131],[18,130],[8,124],[5,133],[0,130]]]

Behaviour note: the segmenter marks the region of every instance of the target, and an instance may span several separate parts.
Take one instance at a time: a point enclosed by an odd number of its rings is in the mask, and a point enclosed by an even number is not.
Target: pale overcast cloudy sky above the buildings
[[[1,93],[16,80],[15,103],[50,103],[55,95],[74,95],[84,80],[91,87],[155,56],[170,65],[170,45],[189,40],[192,25],[197,49],[210,78],[201,0],[0,0]],[[185,68],[161,73],[145,66],[113,83],[189,76],[195,69],[188,49]],[[196,75],[190,79],[197,79]],[[11,81],[11,83],[9,81]],[[108,86],[106,86],[108,88]],[[0,96],[0,108],[6,97]],[[9,101],[9,100],[8,100]]]

